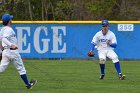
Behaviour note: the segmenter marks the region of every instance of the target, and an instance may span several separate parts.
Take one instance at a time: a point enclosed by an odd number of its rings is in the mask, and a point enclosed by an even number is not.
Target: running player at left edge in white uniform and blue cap
[[[2,16],[3,27],[0,31],[0,34],[2,40],[2,47],[4,50],[2,52],[0,74],[4,72],[9,63],[13,63],[15,68],[18,70],[22,80],[26,84],[27,89],[32,89],[32,87],[37,83],[37,80],[31,80],[30,82],[28,81],[25,67],[18,52],[16,34],[10,27],[12,18],[13,16],[9,14],[4,14]]]

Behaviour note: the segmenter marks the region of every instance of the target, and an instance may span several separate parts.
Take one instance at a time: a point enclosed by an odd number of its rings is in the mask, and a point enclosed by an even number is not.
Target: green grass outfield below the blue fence
[[[99,80],[97,61],[24,60],[29,79],[37,79],[27,90],[18,72],[9,65],[0,75],[0,93],[140,93],[140,62],[121,61],[126,80],[119,80],[112,62],[106,63],[106,77]]]

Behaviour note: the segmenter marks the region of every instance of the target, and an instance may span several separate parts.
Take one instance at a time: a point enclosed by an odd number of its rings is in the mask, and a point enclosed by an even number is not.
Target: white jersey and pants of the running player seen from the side
[[[13,63],[20,75],[26,74],[21,56],[17,49],[12,50],[11,45],[17,45],[17,38],[13,29],[9,26],[4,26],[1,29],[2,46],[2,60],[0,64],[0,73],[4,72],[9,63]]]

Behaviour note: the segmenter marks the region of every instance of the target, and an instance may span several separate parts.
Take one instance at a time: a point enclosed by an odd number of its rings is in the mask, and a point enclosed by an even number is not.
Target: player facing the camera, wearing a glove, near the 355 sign
[[[98,56],[100,60],[100,69],[102,80],[105,76],[105,61],[106,57],[111,59],[114,63],[116,71],[118,73],[119,79],[124,80],[125,75],[122,75],[120,62],[117,54],[114,52],[114,48],[117,46],[116,36],[113,32],[111,32],[108,28],[108,20],[102,20],[102,30],[97,32],[92,39],[92,49],[88,52],[88,56],[93,56],[93,50],[96,47],[98,50]]]

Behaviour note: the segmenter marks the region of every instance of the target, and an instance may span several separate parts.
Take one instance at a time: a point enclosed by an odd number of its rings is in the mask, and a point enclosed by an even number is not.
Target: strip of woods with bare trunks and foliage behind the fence
[[[140,0],[0,0],[14,20],[139,20]]]

